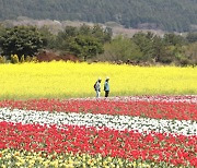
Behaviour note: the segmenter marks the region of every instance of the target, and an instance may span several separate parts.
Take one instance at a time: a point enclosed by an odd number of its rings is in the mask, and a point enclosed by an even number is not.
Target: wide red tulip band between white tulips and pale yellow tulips
[[[175,166],[197,166],[197,136],[0,122],[0,148],[102,154],[130,160],[140,158]]]

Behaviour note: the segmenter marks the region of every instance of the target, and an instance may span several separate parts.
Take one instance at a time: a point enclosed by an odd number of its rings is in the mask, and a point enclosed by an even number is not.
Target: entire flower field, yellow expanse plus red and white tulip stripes
[[[0,65],[0,167],[197,167],[197,69]],[[93,84],[109,76],[109,97]]]

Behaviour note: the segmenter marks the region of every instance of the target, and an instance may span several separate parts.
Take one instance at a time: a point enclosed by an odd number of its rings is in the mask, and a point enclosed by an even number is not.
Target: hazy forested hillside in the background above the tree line
[[[171,32],[197,25],[197,0],[0,0],[0,20],[114,21],[125,27]]]

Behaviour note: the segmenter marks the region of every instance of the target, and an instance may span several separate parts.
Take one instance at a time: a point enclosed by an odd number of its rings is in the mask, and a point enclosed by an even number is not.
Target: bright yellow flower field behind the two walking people
[[[0,64],[0,99],[94,97],[106,76],[109,96],[197,94],[197,68],[44,62]]]

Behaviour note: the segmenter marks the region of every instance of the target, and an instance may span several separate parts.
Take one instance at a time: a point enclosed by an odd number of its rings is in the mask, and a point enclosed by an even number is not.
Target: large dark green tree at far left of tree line
[[[15,26],[7,28],[0,37],[0,45],[4,56],[34,56],[45,45],[45,39],[36,27]]]

